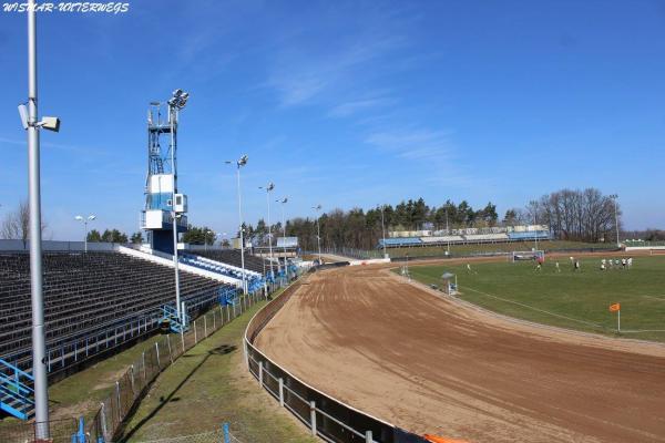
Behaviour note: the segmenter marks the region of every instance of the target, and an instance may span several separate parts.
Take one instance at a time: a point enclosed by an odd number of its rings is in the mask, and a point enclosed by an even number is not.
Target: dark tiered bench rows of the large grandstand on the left
[[[51,373],[158,327],[173,302],[173,269],[119,253],[47,253],[44,305]],[[217,300],[221,281],[181,272],[190,315]],[[25,253],[0,254],[0,356],[31,367],[30,262]]]

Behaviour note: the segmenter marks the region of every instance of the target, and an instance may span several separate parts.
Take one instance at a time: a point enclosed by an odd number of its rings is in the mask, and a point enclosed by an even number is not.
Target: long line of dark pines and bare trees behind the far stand
[[[429,206],[423,198],[409,199],[396,206],[385,205],[367,210],[332,209],[319,218],[321,247],[376,247],[385,230],[450,229],[515,225],[549,225],[554,238],[581,241],[614,240],[621,209],[611,196],[598,189],[562,189],[542,196],[523,208],[508,209],[500,219],[491,202],[474,209],[467,200],[459,204],[447,200],[441,206]],[[382,214],[381,214],[382,213]],[[381,217],[383,224],[381,225]],[[256,227],[245,225],[245,235],[255,244],[267,244],[267,225],[259,219]],[[280,236],[282,224],[270,227],[273,236]],[[286,235],[298,237],[300,247],[317,248],[317,220],[296,217],[287,220]],[[388,234],[386,233],[386,236]]]

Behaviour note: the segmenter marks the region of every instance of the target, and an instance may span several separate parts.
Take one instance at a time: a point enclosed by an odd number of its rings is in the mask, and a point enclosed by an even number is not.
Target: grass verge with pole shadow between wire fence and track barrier
[[[244,367],[243,332],[263,305],[253,306],[160,374],[127,420],[121,441],[197,434],[229,422],[232,433],[244,442],[316,442]]]

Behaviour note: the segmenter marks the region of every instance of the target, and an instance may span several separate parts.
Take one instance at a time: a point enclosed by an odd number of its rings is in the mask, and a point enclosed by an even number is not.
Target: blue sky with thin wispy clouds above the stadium
[[[143,1],[39,16],[43,212],[55,239],[137,230],[145,113],[176,87],[190,219],[287,216],[423,196],[503,213],[562,187],[617,193],[628,228],[665,227],[665,3]],[[27,195],[25,16],[0,13],[0,216]],[[276,205],[273,218],[279,217]]]

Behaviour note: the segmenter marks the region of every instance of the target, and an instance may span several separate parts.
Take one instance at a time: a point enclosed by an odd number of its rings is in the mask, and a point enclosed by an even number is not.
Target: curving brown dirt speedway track
[[[665,442],[665,348],[515,323],[386,269],[318,272],[256,341],[305,382],[417,433]]]

